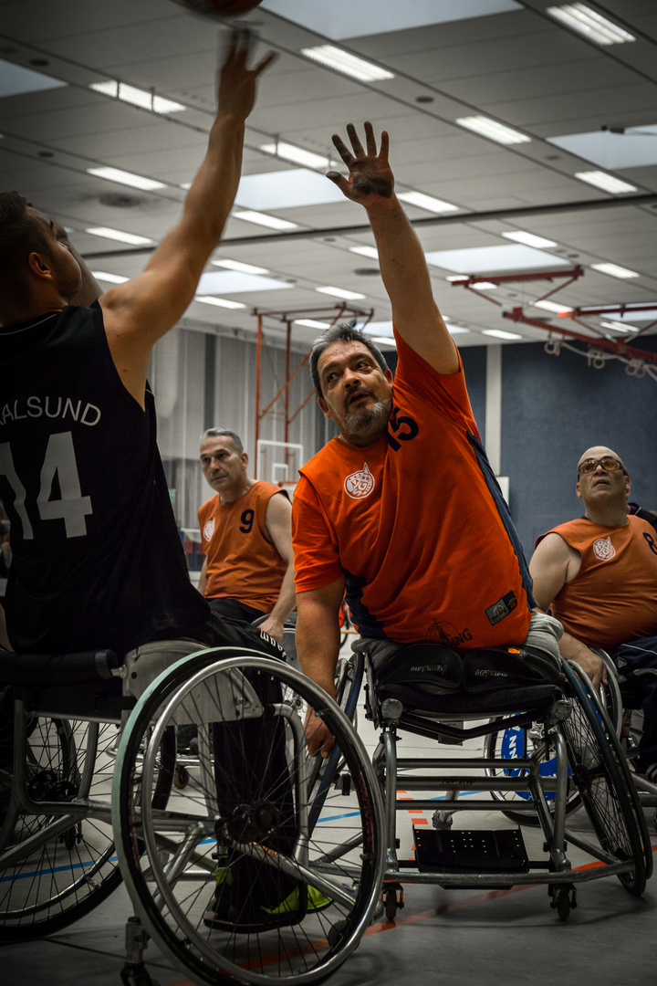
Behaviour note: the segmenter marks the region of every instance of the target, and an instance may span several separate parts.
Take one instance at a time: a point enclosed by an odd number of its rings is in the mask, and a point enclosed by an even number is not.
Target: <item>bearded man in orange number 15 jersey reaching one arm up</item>
[[[336,326],[317,341],[311,375],[340,434],[300,469],[293,506],[297,653],[331,694],[345,591],[375,662],[420,641],[461,653],[528,642],[534,605],[458,351],[394,194],[387,134],[377,153],[371,124],[364,129],[365,148],[348,127],[353,153],[333,137],[349,177],[328,177],[367,212],[399,362],[393,386],[360,332]],[[558,622],[537,614],[532,630],[554,668]],[[311,749],[328,752],[331,737],[313,716],[307,734]]]

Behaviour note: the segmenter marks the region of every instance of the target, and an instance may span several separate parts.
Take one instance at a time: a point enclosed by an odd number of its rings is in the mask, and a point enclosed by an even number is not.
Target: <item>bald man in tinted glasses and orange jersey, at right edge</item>
[[[579,459],[575,491],[584,516],[538,538],[534,593],[563,624],[564,658],[599,679],[604,666],[591,648],[604,648],[638,685],[644,733],[636,769],[657,783],[657,534],[627,514],[629,475],[606,446]]]

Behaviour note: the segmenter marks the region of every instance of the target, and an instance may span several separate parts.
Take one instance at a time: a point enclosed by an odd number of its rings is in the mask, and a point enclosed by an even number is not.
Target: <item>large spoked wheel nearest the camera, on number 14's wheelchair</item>
[[[306,705],[346,763],[312,832]],[[146,733],[157,745],[178,722],[198,725],[198,765],[157,810],[158,759],[136,758]],[[151,685],[119,747],[113,819],[141,920],[199,984],[318,982],[356,948],[378,902],[382,808],[361,740],[321,688],[257,652],[204,651]]]

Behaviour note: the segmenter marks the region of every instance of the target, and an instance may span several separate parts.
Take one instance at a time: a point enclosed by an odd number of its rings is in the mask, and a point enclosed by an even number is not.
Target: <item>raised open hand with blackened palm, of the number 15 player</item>
[[[381,199],[392,198],[395,178],[388,164],[388,134],[385,130],[382,132],[381,146],[377,154],[374,128],[371,123],[365,123],[364,129],[366,150],[362,147],[354,124],[347,125],[347,133],[354,153],[338,134],[333,134],[333,144],[349,168],[349,177],[346,178],[338,172],[328,172],[326,177],[337,184],[346,198],[360,202],[366,208]]]

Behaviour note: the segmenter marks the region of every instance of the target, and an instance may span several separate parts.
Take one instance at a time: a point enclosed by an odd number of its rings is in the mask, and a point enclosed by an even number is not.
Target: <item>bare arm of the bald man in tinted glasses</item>
[[[579,571],[581,558],[574,548],[563,540],[560,534],[547,534],[536,547],[529,564],[529,573],[534,582],[534,597],[541,612],[552,604],[566,582]],[[597,654],[586,644],[569,633],[563,633],[558,649],[566,661],[576,661],[588,674],[595,687],[607,682],[607,669]]]

